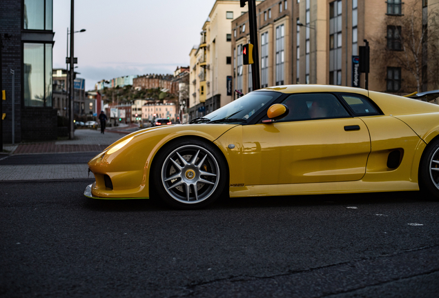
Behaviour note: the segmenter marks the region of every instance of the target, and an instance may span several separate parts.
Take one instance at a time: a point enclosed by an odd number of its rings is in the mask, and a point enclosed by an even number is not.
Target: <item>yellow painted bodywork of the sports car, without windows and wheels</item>
[[[277,86],[284,93],[350,92],[371,98],[383,115],[305,121],[191,124],[148,128],[106,148],[88,166],[92,195],[106,199],[149,197],[150,166],[168,141],[198,137],[221,150],[231,197],[418,190],[422,152],[439,135],[439,106],[340,86]],[[358,130],[344,130],[358,126]],[[108,155],[108,150],[133,137]],[[233,144],[229,148],[228,146]],[[389,153],[401,153],[388,168]],[[113,182],[105,187],[104,175]]]

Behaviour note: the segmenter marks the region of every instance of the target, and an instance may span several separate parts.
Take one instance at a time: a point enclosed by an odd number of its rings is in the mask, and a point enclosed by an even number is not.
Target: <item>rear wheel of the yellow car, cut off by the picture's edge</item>
[[[439,199],[439,139],[425,148],[419,165],[419,188]]]

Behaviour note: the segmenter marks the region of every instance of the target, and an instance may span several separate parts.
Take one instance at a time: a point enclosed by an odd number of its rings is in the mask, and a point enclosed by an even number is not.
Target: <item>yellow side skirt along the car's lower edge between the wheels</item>
[[[230,197],[269,197],[285,195],[323,195],[359,192],[392,192],[419,190],[411,181],[345,181],[325,183],[272,184],[260,186],[232,186]]]

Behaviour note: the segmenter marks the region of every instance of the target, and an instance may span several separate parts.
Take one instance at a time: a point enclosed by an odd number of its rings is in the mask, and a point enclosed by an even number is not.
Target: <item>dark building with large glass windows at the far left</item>
[[[12,134],[15,143],[57,139],[57,110],[52,102],[52,5],[52,0],[0,2],[2,88],[6,90],[3,143],[12,143]]]

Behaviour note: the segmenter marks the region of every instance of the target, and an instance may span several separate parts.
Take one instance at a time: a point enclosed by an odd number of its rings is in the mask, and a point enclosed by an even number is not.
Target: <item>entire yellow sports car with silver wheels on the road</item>
[[[264,88],[88,162],[84,195],[202,208],[257,197],[426,190],[439,197],[439,106],[340,86]]]

